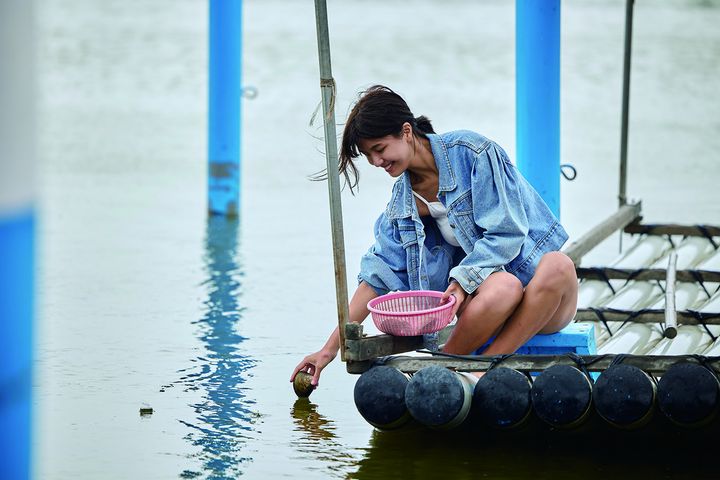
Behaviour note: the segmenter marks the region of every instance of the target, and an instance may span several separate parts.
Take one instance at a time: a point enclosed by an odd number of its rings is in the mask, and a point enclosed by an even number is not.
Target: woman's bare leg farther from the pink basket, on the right
[[[546,253],[525,288],[520,305],[483,353],[512,353],[536,333],[562,330],[575,316],[577,291],[572,260],[560,252]]]

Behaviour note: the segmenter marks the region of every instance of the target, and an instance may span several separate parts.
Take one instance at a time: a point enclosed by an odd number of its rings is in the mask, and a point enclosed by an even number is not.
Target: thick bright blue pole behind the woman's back
[[[560,0],[515,2],[517,164],[560,217]]]

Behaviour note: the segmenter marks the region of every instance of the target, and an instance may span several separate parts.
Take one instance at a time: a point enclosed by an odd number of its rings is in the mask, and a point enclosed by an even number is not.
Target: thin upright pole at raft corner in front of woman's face
[[[347,276],[345,273],[345,239],[343,237],[340,174],[338,172],[337,134],[335,132],[335,80],[330,66],[330,39],[325,0],[315,0],[318,57],[320,59],[320,90],[322,92],[325,152],[327,159],[330,224],[332,228],[335,290],[337,296],[340,356],[345,361],[345,324],[348,322]]]

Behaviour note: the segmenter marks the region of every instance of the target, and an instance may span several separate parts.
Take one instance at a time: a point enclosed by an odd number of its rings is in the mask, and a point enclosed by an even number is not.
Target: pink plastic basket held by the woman
[[[411,290],[373,298],[368,310],[375,326],[384,333],[411,337],[433,333],[445,328],[452,320],[455,297],[440,304],[442,292]]]

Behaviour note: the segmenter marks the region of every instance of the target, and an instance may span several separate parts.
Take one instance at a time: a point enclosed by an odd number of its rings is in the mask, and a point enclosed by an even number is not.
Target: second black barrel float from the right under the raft
[[[597,413],[620,428],[635,428],[652,416],[655,404],[655,381],[632,365],[611,365],[593,387]]]

